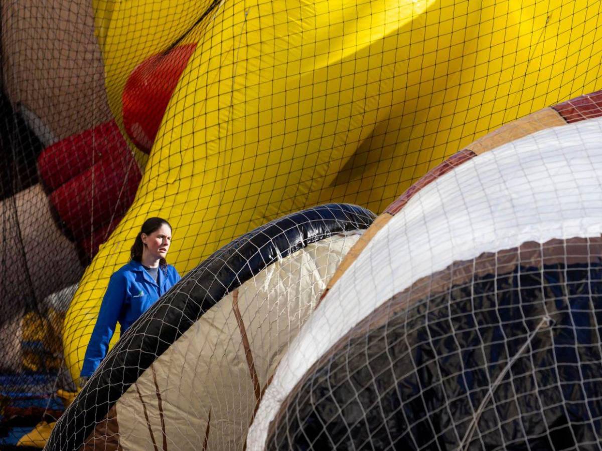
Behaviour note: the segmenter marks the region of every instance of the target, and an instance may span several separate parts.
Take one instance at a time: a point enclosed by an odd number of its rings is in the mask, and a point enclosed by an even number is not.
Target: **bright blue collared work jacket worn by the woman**
[[[132,260],[111,275],[101,311],[85,350],[81,376],[91,376],[107,355],[117,321],[123,334],[157,299],[180,280],[176,268],[159,269],[158,284],[141,263]]]

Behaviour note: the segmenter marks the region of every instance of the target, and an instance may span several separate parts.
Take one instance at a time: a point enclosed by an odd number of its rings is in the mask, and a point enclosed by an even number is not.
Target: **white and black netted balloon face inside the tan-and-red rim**
[[[291,344],[248,449],[594,446],[601,137],[544,130],[418,192]]]

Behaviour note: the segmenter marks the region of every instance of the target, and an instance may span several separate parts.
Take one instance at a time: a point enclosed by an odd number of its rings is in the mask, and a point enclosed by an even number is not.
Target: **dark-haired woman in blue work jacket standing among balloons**
[[[176,268],[165,257],[172,227],[165,219],[148,218],[136,236],[131,261],[111,275],[90,343],[85,351],[79,385],[83,386],[108,351],[117,321],[123,334],[141,314],[178,280]]]

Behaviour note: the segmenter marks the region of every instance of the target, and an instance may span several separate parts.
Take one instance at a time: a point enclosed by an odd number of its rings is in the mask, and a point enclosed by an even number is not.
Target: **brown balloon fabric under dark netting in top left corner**
[[[91,0],[2,0],[2,52],[9,99],[56,139],[110,120]]]

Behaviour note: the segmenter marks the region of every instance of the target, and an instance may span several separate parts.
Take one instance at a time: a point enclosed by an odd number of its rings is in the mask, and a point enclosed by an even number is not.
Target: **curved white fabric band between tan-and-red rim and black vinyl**
[[[314,380],[329,349],[343,346],[346,334],[417,281],[428,284],[454,262],[529,242],[600,238],[600,174],[602,120],[594,119],[505,144],[421,189],[368,243],[293,340],[262,397],[247,449],[268,447],[268,429],[284,421],[291,392]]]

